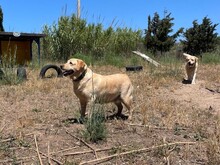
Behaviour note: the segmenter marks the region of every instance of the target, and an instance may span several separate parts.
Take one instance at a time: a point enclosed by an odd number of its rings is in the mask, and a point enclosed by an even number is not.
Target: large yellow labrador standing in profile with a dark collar
[[[85,117],[86,106],[93,103],[113,102],[121,115],[123,105],[129,110],[128,119],[132,118],[131,104],[133,100],[133,86],[126,74],[100,75],[93,73],[81,59],[72,58],[60,66],[63,75],[73,82],[73,89],[79,98],[81,118]]]

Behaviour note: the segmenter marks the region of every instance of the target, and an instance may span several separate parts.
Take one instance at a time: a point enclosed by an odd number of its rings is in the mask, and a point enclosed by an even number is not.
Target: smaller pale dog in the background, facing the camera
[[[195,84],[196,72],[198,68],[198,58],[186,53],[183,53],[183,56],[186,59],[186,81],[189,81],[191,84]]]

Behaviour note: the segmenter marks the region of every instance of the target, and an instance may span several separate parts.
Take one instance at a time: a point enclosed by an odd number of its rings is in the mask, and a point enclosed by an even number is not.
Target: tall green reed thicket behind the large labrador
[[[75,54],[87,54],[96,60],[106,54],[127,56],[142,43],[142,32],[130,28],[104,29],[102,24],[88,24],[84,19],[61,16],[57,24],[46,25],[43,50],[48,59],[67,60]]]

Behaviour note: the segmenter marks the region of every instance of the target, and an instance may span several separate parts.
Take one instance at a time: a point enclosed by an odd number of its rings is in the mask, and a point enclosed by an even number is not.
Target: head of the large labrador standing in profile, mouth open
[[[87,65],[83,60],[72,58],[65,64],[60,65],[60,68],[63,70],[64,76],[69,76],[75,80],[86,71]]]

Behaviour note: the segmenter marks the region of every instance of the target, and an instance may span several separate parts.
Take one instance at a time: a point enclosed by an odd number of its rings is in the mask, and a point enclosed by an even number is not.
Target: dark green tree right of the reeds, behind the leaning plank
[[[154,14],[153,19],[148,16],[148,28],[145,30],[145,46],[148,50],[156,53],[167,52],[175,44],[176,38],[183,32],[183,28],[180,28],[176,33],[173,33],[174,18],[171,17],[171,13],[165,15],[163,19],[160,19],[158,13]]]

